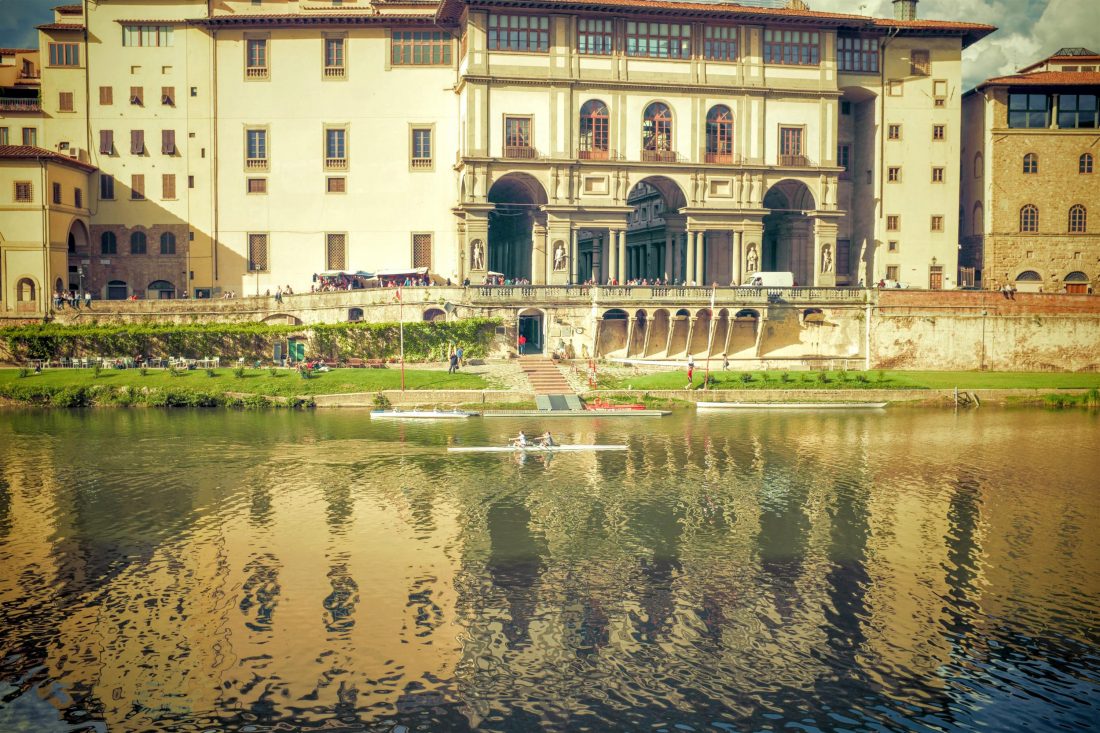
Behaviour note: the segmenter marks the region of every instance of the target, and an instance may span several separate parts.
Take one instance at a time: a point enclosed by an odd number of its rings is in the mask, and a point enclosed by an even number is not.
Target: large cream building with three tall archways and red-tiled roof
[[[993,29],[895,7],[62,7],[40,26],[42,144],[100,171],[70,266],[101,297],[418,266],[955,287],[960,58]],[[644,241],[639,184],[663,229]]]

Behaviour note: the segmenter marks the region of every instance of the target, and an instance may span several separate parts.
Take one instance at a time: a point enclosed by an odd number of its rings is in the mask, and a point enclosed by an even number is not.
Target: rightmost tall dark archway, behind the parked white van
[[[814,196],[801,180],[780,180],[768,189],[763,207],[763,243],[760,270],[792,272],[799,285],[814,284]]]

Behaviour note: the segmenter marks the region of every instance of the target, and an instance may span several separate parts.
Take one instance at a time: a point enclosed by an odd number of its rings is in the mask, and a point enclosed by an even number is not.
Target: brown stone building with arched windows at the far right
[[[1098,99],[1100,54],[1088,48],[1062,48],[964,98],[963,265],[983,286],[1100,283]]]

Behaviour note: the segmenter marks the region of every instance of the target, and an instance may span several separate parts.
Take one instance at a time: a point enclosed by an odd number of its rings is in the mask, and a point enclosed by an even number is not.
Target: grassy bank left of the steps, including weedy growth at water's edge
[[[90,404],[153,406],[306,406],[318,394],[399,390],[399,369],[338,369],[302,379],[290,370],[232,369],[182,371],[53,369],[40,374],[0,370],[0,397],[32,404],[76,407]],[[405,370],[408,390],[484,390],[481,376],[459,372]]]

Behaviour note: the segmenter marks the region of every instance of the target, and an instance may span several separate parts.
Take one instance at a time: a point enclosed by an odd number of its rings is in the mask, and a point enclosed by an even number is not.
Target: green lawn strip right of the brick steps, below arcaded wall
[[[703,385],[704,370],[696,365],[693,384]],[[785,378],[784,378],[785,374]],[[1055,372],[822,372],[778,370],[768,372],[712,371],[716,390],[1066,390],[1100,387],[1100,373]],[[747,379],[750,378],[750,379]],[[785,379],[785,381],[784,381]],[[867,381],[860,381],[866,379]],[[683,390],[684,370],[613,379],[601,376],[602,390]]]

